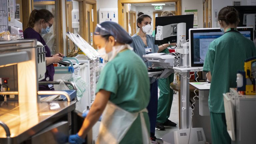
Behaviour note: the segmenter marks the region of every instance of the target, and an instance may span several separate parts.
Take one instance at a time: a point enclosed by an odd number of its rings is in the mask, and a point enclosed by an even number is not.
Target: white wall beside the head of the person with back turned
[[[212,0],[212,27],[218,27],[217,17],[219,11],[226,6],[232,6],[234,0]],[[240,0],[241,5],[246,5],[246,0]],[[215,15],[216,11],[216,15]],[[215,18],[216,17],[216,18]]]

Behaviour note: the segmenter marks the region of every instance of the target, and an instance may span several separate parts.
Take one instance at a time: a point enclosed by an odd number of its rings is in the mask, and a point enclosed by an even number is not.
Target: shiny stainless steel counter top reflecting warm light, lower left
[[[75,110],[75,102],[0,103],[0,121],[10,129],[12,143],[20,143]],[[6,132],[0,127],[0,142]]]

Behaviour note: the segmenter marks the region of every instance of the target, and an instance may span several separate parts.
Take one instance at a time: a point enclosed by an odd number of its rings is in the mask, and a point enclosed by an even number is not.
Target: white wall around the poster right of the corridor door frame
[[[194,10],[194,9],[197,9],[198,26],[199,28],[203,28],[203,1],[202,0],[182,0],[181,1],[182,15],[185,14],[185,10]]]

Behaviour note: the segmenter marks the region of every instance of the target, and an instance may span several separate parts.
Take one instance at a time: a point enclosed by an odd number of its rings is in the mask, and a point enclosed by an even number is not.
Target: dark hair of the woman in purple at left
[[[35,26],[35,23],[40,19],[43,19],[45,20],[45,22],[47,22],[50,21],[52,18],[54,18],[53,14],[47,9],[34,9],[29,16],[28,27],[33,28]]]

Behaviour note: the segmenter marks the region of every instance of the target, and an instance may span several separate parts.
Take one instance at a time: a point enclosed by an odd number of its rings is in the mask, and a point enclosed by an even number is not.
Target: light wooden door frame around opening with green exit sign
[[[124,27],[123,22],[123,4],[127,3],[158,3],[158,2],[175,2],[176,15],[181,15],[181,0],[118,0],[118,24]]]

